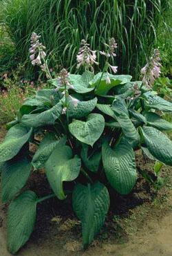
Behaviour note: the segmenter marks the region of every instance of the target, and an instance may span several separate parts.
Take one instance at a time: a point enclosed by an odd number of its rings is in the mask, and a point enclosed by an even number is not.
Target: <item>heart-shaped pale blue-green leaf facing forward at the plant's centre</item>
[[[71,134],[82,143],[93,146],[103,134],[105,119],[99,113],[90,113],[87,121],[74,120],[69,124]]]

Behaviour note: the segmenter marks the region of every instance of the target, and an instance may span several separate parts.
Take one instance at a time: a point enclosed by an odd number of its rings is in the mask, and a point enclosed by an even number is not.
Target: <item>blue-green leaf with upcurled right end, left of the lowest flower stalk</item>
[[[54,125],[55,120],[61,116],[63,105],[61,102],[57,103],[51,109],[43,111],[42,113],[33,113],[24,115],[21,118],[23,125],[27,127],[40,127],[45,125]]]

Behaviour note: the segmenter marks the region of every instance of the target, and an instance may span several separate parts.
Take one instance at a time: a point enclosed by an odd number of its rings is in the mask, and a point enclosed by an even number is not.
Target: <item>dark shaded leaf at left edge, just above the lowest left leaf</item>
[[[26,157],[14,158],[3,165],[1,172],[3,203],[12,199],[23,188],[31,169],[32,165]]]

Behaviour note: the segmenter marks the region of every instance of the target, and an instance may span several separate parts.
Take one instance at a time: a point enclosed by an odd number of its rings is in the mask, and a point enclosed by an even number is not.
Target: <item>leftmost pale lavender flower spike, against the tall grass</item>
[[[31,36],[31,47],[30,51],[30,60],[32,61],[32,65],[39,65],[43,70],[42,61],[44,62],[44,58],[46,57],[45,46],[39,42],[39,38],[41,36],[36,33],[32,33]],[[45,66],[44,66],[45,68]]]

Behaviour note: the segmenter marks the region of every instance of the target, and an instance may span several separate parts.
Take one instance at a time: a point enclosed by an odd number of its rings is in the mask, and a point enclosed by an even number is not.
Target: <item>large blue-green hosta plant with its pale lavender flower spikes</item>
[[[52,79],[39,40],[34,33],[30,59],[41,66],[52,89],[42,89],[25,100],[0,146],[2,201],[10,203],[10,253],[17,253],[28,241],[38,203],[52,196],[65,200],[69,193],[87,248],[107,216],[109,188],[120,194],[133,190],[136,150],[172,165],[172,142],[163,133],[172,125],[161,117],[162,112],[172,111],[172,103],[151,89],[151,81],[160,73],[157,51],[156,59],[142,69],[143,82],[133,82],[131,75],[115,75],[114,39],[100,53],[106,62],[103,72],[97,74],[96,51],[83,40],[77,56],[83,74],[63,69]],[[31,143],[37,147],[34,154]],[[40,169],[45,170],[52,188],[52,194],[43,198],[23,190],[31,172]]]

